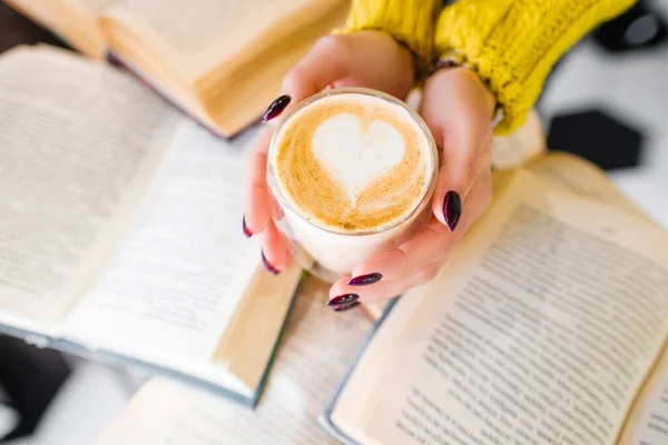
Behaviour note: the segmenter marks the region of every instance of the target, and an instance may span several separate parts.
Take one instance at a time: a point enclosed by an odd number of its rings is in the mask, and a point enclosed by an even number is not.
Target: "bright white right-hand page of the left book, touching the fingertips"
[[[67,320],[84,344],[183,369],[208,363],[259,264],[242,233],[245,150],[184,121],[130,229]]]

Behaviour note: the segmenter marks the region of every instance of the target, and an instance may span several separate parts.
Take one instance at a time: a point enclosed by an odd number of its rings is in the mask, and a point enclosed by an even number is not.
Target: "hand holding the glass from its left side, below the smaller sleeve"
[[[295,105],[325,88],[365,87],[405,99],[414,76],[411,52],[384,32],[326,36],[285,76],[283,95]],[[289,266],[292,246],[272,219],[281,216],[266,180],[272,132],[273,129],[265,132],[248,160],[244,224],[250,234],[263,234],[267,268],[278,273]]]

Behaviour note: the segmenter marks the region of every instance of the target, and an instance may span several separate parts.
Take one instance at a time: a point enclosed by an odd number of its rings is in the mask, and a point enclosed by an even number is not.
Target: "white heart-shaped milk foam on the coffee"
[[[338,113],[316,128],[311,148],[330,175],[345,185],[355,206],[374,178],[401,162],[406,144],[385,120],[372,121],[364,131],[357,116]]]

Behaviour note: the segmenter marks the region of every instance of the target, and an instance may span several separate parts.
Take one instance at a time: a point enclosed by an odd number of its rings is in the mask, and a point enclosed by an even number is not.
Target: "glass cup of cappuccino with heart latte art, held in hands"
[[[268,156],[282,228],[308,268],[332,275],[414,231],[438,167],[424,122],[397,99],[364,89],[328,90],[297,106]]]

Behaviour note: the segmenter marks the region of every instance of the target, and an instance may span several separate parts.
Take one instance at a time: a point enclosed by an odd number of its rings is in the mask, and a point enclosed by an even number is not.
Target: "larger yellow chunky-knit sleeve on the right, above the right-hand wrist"
[[[635,0],[459,0],[441,13],[435,52],[470,67],[503,111],[497,134],[520,127],[554,62]]]

